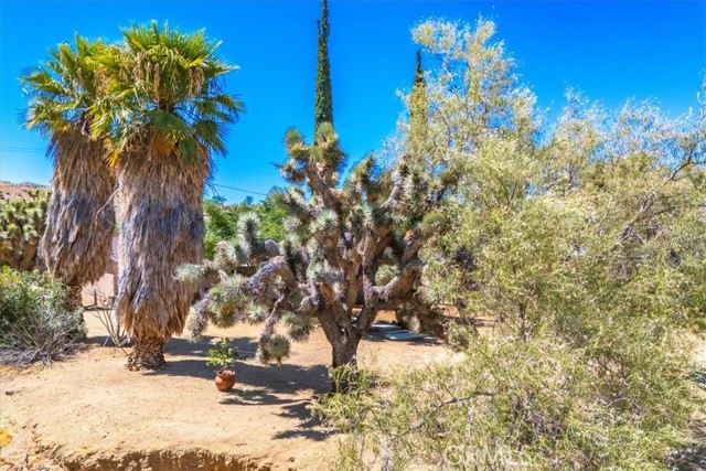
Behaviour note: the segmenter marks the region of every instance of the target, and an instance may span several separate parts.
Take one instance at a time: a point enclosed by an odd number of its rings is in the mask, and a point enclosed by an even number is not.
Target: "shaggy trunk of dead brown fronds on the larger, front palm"
[[[149,152],[152,152],[151,150]],[[116,310],[136,339],[127,366],[164,366],[163,345],[183,331],[194,290],[174,278],[182,264],[201,261],[205,156],[131,152],[118,162],[120,181],[119,289]]]

